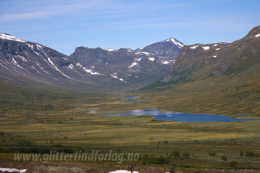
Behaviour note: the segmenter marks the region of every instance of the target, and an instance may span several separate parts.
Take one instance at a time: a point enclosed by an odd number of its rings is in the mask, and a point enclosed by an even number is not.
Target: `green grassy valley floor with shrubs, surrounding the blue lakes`
[[[160,108],[193,114],[249,114],[244,118],[257,119],[260,83],[253,73],[111,94],[92,94],[89,88],[35,86],[24,90],[1,84],[0,167],[28,172],[109,172],[125,170],[136,162],[139,172],[166,172],[172,165],[176,172],[259,172],[260,121],[177,122],[154,120],[149,115],[102,116],[110,114],[103,112]],[[139,96],[134,100],[148,103],[123,103],[126,99],[118,98],[122,96]],[[73,156],[71,161],[44,163],[14,158],[14,153],[39,153],[43,159],[54,150],[111,151],[125,153],[125,157],[138,153],[139,159],[118,163],[75,161]]]

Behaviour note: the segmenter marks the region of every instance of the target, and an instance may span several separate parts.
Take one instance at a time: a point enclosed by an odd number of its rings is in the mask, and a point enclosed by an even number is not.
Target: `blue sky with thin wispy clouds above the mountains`
[[[171,37],[232,42],[260,25],[259,0],[0,0],[0,33],[66,55],[76,47],[131,48]]]

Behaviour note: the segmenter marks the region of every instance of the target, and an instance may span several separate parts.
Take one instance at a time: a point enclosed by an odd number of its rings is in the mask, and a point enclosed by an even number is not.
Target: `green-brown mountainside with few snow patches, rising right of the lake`
[[[259,115],[259,50],[260,26],[232,43],[184,46],[167,74],[138,91],[167,110]]]

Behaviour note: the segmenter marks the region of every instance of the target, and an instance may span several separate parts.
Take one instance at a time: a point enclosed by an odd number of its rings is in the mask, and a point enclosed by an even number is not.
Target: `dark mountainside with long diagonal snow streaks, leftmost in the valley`
[[[95,85],[112,85],[113,82],[123,84],[110,75],[85,68],[60,52],[9,34],[0,34],[0,48],[0,78],[3,80],[61,85],[75,82]]]

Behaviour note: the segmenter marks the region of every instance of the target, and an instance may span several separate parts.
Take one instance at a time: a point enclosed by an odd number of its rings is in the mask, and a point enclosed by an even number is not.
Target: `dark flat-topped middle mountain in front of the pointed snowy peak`
[[[174,60],[164,60],[148,52],[132,49],[78,47],[70,58],[88,69],[99,71],[131,84],[147,85],[162,77]]]

